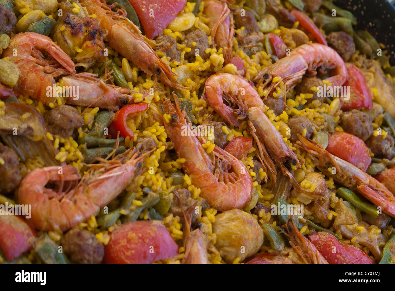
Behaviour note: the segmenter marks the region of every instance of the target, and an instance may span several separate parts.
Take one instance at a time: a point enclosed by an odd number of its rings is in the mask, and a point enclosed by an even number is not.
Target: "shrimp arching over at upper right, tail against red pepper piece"
[[[254,81],[258,81],[257,87],[264,89],[269,86],[269,94],[280,82],[284,82],[286,89],[292,89],[306,72],[316,75],[316,69],[322,65],[333,68],[334,75],[327,78],[332,86],[342,86],[348,79],[344,61],[334,49],[319,43],[306,43],[292,50],[290,56],[260,71]],[[275,77],[280,78],[272,82]]]

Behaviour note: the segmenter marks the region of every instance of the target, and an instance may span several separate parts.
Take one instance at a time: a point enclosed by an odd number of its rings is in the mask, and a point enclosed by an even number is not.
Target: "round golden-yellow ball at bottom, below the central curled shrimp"
[[[213,233],[217,237],[215,247],[221,257],[232,263],[254,255],[263,244],[263,230],[256,219],[240,209],[224,211],[215,216]]]

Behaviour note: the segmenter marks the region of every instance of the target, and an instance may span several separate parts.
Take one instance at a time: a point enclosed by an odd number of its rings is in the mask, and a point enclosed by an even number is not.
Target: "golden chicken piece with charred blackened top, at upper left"
[[[66,29],[61,30],[62,27]],[[105,61],[103,33],[93,17],[67,14],[58,21],[52,39],[73,59],[77,68],[82,67],[86,71],[96,61]]]

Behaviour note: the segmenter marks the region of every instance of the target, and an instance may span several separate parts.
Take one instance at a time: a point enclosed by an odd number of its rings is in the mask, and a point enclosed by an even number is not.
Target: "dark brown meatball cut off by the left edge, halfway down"
[[[22,175],[19,172],[19,160],[15,151],[5,145],[0,145],[0,193],[13,192],[21,183]]]

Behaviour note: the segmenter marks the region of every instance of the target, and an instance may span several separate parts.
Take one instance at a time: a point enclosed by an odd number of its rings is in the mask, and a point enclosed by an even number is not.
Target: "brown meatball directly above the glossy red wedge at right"
[[[372,119],[365,112],[353,109],[340,115],[340,125],[345,132],[359,137],[364,142],[372,135]]]

